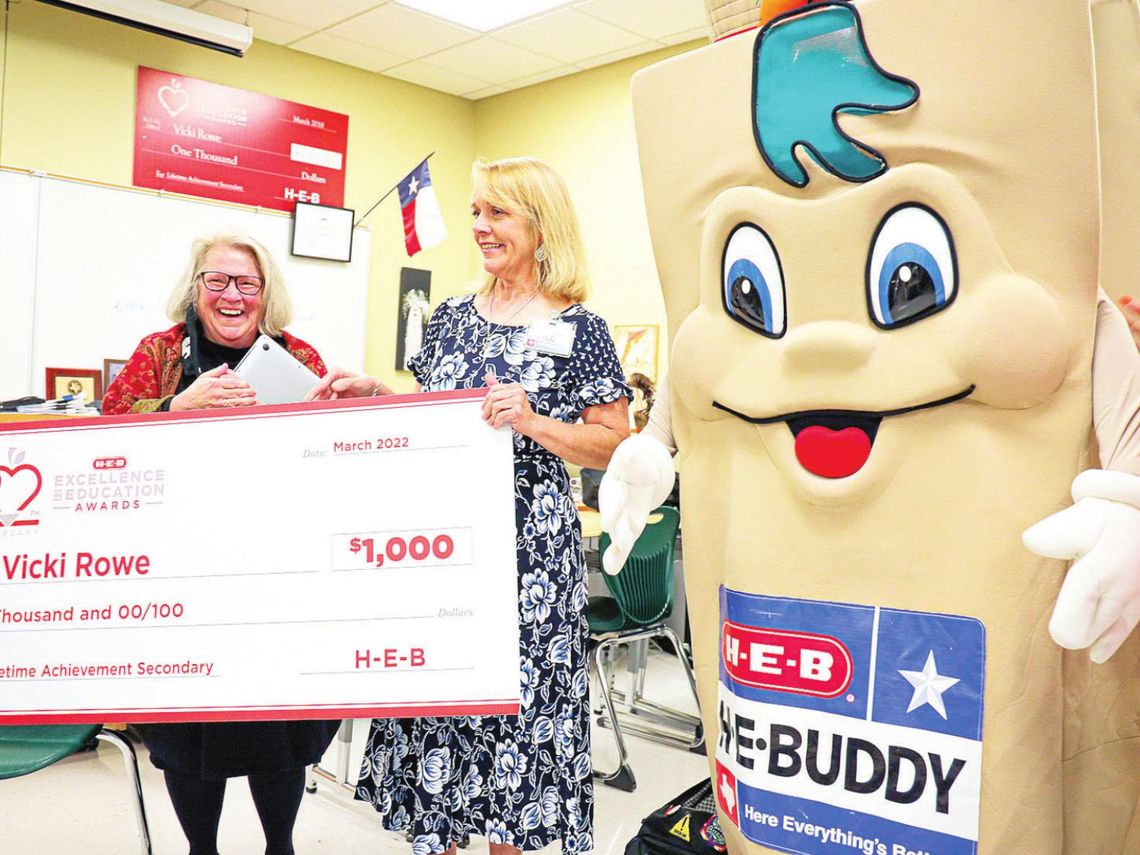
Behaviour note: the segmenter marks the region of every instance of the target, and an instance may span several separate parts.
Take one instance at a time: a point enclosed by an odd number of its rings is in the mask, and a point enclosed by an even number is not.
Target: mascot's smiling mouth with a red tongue
[[[854,475],[871,457],[871,446],[879,432],[879,423],[889,416],[917,413],[921,409],[942,407],[960,401],[974,392],[970,384],[961,392],[938,400],[915,404],[910,407],[885,410],[857,409],[805,409],[779,416],[747,416],[726,407],[719,401],[712,406],[736,416],[749,424],[775,424],[784,422],[796,438],[796,459],[800,465],[820,478],[847,478]]]

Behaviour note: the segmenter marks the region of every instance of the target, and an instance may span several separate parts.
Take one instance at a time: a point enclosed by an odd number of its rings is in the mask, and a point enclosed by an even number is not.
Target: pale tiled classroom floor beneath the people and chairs
[[[646,695],[689,708],[683,676],[671,657],[653,653]],[[594,757],[600,768],[614,765],[609,732],[595,728]],[[595,853],[620,855],[641,819],[671,796],[708,774],[703,756],[627,738],[637,776],[632,793],[598,785]],[[162,774],[140,748],[142,788],[155,855],[185,855]],[[33,775],[0,781],[0,855],[135,855],[139,852],[119,751],[100,744],[96,755],[71,757]],[[244,779],[229,783],[219,834],[222,855],[260,855],[264,842]],[[383,831],[370,807],[352,800],[336,784],[321,782],[301,805],[294,836],[298,855],[408,853],[402,837]],[[552,846],[546,853],[556,853]],[[486,853],[481,838],[469,853]]]

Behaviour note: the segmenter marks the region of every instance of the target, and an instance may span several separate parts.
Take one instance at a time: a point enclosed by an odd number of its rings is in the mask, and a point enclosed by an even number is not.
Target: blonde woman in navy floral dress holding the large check
[[[586,569],[563,459],[605,469],[629,433],[605,323],[586,310],[586,269],[562,179],[529,157],[475,163],[472,231],[486,278],[445,301],[410,361],[422,389],[487,386],[483,417],[514,431],[522,706],[518,717],[375,720],[357,797],[416,855],[470,834],[492,855],[561,841],[593,847]],[[316,397],[370,394],[333,372]],[[580,420],[580,423],[579,423]]]

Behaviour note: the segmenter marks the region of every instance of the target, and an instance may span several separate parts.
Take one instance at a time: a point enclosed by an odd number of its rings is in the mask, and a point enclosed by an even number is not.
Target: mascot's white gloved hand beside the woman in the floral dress
[[[610,534],[602,565],[610,576],[625,565],[650,511],[673,490],[673,457],[656,439],[635,433],[614,449],[597,488],[602,530]]]

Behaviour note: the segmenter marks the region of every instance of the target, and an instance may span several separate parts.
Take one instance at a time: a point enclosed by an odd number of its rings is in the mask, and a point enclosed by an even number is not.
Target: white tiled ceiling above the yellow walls
[[[486,33],[394,0],[170,1],[249,24],[255,39],[471,99],[709,36],[703,0],[567,0]]]

